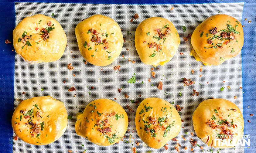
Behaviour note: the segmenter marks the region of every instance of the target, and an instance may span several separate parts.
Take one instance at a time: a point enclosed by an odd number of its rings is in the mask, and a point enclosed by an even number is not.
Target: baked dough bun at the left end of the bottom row
[[[66,131],[67,110],[50,96],[23,100],[12,115],[12,128],[26,143],[50,144]]]

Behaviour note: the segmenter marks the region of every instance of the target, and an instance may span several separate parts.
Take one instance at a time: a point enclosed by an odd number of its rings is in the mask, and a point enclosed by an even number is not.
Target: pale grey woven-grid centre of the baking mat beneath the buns
[[[45,146],[35,146],[26,144],[25,142],[13,142],[13,152],[73,152],[82,153],[85,149],[87,152],[132,152],[131,148],[136,147],[138,153],[141,152],[176,152],[174,146],[176,142],[168,142],[168,150],[164,148],[152,149],[146,146],[138,137],[135,130],[135,112],[130,112],[127,105],[136,111],[138,104],[131,104],[130,100],[142,101],[148,97],[159,97],[164,100],[179,104],[184,107],[181,111],[183,128],[176,137],[181,144],[181,152],[191,152],[192,145],[189,139],[193,138],[198,141],[203,150],[210,152],[202,141],[200,141],[194,132],[192,124],[192,113],[201,101],[214,98],[225,98],[234,102],[242,109],[242,86],[241,75],[241,53],[233,59],[227,60],[220,66],[203,66],[197,62],[190,53],[190,42],[184,42],[183,37],[199,25],[203,20],[211,15],[223,13],[231,15],[241,21],[244,3],[217,3],[217,4],[178,4],[178,5],[114,5],[114,4],[69,4],[69,3],[15,3],[16,25],[25,17],[35,14],[44,14],[54,16],[63,26],[67,34],[67,48],[60,60],[51,63],[41,63],[32,65],[26,63],[17,54],[15,55],[15,91],[14,91],[14,109],[20,100],[37,96],[50,95],[64,102],[68,115],[72,115],[73,119],[68,121],[67,131],[63,136],[52,144]],[[171,8],[174,8],[171,10]],[[133,15],[138,13],[137,20],[130,20]],[[126,39],[121,55],[117,60],[109,66],[98,67],[83,62],[83,57],[78,50],[74,29],[81,20],[86,19],[94,14],[102,14],[114,19],[123,29],[123,36]],[[152,78],[152,66],[143,64],[136,52],[134,45],[134,34],[136,27],[144,19],[152,16],[160,16],[172,21],[180,35],[181,43],[179,49],[173,59],[166,63],[165,66],[154,68],[156,77]],[[186,32],[183,32],[182,25],[186,26]],[[127,35],[127,31],[131,32],[131,36]],[[128,49],[128,50],[127,50]],[[180,55],[183,53],[184,55]],[[135,60],[132,64],[128,60]],[[74,70],[69,71],[67,64],[72,63]],[[121,65],[120,71],[114,71],[113,67]],[[159,68],[159,69],[158,69]],[[192,74],[191,70],[195,73]],[[128,84],[127,81],[136,74],[136,83]],[[75,74],[75,77],[73,77]],[[202,75],[202,77],[199,77]],[[184,87],[181,78],[186,77],[196,82],[196,84]],[[151,78],[151,82],[148,82]],[[63,83],[66,81],[66,83]],[[144,82],[141,84],[141,82]],[[163,82],[163,90],[157,89],[159,81]],[[225,81],[225,83],[223,82]],[[208,83],[207,83],[208,82]],[[74,86],[77,90],[68,92],[68,89]],[[227,89],[230,86],[230,90]],[[91,87],[94,89],[90,90]],[[121,93],[117,89],[123,87]],[[220,91],[221,87],[225,87]],[[41,91],[41,88],[44,90]],[[193,89],[199,91],[199,96],[195,97],[191,94]],[[26,92],[25,95],[22,92]],[[124,95],[130,97],[126,99]],[[168,94],[167,94],[168,93]],[[181,96],[179,96],[181,93]],[[76,94],[76,97],[74,97]],[[139,97],[138,95],[142,96]],[[234,99],[237,96],[237,99]],[[85,106],[92,100],[99,98],[108,98],[118,102],[127,112],[129,119],[128,129],[124,139],[119,144],[108,147],[97,146],[92,144],[85,138],[78,136],[74,129],[76,122],[75,114],[79,110],[84,110]],[[188,134],[186,134],[186,132]],[[194,136],[191,136],[193,132]],[[186,138],[183,140],[182,136]],[[135,142],[140,143],[136,146]],[[83,144],[83,145],[82,145]],[[187,150],[184,148],[187,147]],[[196,146],[194,151],[202,152]],[[213,148],[213,152],[218,149]],[[222,149],[221,152],[244,152],[243,148]]]

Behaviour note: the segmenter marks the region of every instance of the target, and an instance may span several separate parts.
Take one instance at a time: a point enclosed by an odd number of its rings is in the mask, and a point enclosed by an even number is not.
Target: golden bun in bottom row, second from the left
[[[109,99],[90,102],[77,116],[78,135],[94,144],[108,146],[117,143],[128,127],[128,116],[118,103]]]

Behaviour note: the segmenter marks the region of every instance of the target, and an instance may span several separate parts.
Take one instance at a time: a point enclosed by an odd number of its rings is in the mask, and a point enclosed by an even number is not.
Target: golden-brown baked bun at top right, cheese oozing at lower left
[[[191,44],[190,54],[197,61],[204,65],[220,65],[240,53],[244,45],[242,25],[232,16],[213,15],[196,27]]]

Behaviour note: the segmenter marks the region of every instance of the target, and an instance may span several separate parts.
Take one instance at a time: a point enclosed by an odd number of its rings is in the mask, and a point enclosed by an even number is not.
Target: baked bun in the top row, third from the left
[[[153,66],[169,62],[180,39],[172,22],[160,17],[142,21],[135,32],[135,47],[143,63]]]

